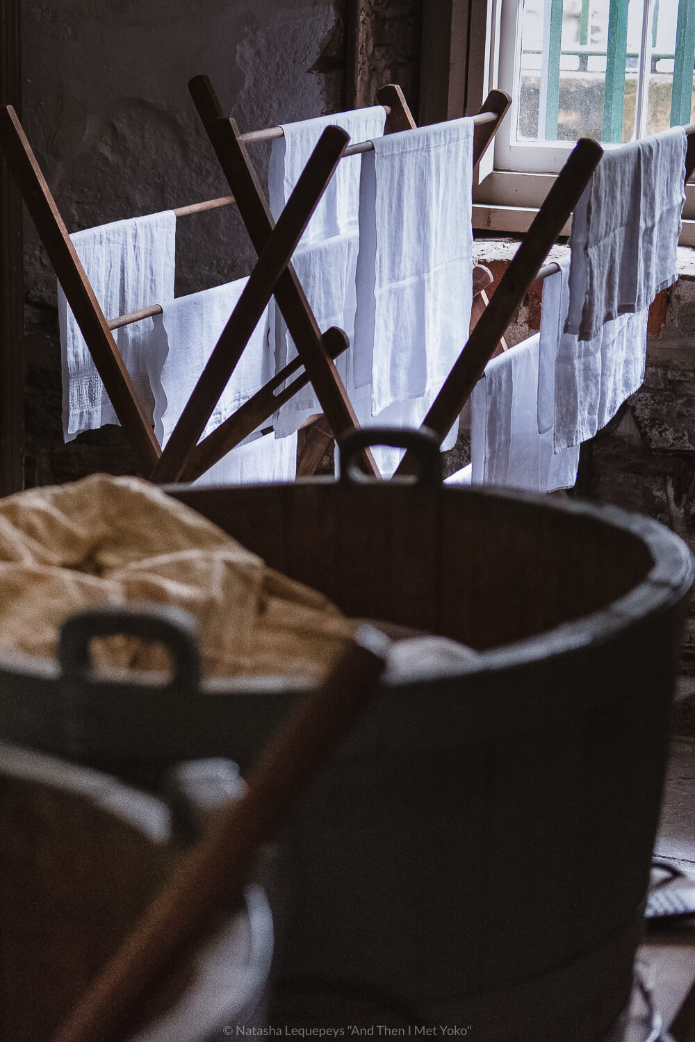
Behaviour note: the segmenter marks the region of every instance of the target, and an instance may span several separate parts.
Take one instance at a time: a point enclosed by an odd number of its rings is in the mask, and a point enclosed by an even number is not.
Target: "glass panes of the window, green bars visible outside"
[[[676,34],[678,6],[676,0],[655,0],[645,40],[648,132],[690,120],[695,4],[680,0],[682,25]],[[524,0],[518,142],[579,137],[629,141],[636,126],[643,8],[643,0]],[[676,101],[679,116],[674,119]]]

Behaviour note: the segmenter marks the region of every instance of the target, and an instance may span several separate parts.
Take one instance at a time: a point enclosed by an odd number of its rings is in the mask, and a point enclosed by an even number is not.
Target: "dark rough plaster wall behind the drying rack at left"
[[[228,193],[191,76],[210,76],[242,129],[343,107],[340,0],[51,0],[22,20],[23,123],[70,231]],[[265,176],[268,146],[254,149]],[[183,218],[176,292],[251,257],[234,207]],[[26,292],[27,485],[132,469],[118,430],[63,446],[55,278],[29,221]]]

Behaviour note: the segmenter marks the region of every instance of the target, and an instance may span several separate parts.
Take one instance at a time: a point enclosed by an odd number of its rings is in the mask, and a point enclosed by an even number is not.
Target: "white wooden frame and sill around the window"
[[[494,139],[494,149],[483,157],[477,172],[477,183],[473,188],[473,227],[518,234],[529,226],[573,143],[524,142],[518,145],[511,142],[512,128],[517,125],[519,98],[515,78],[518,77],[516,53],[520,44],[521,0],[472,0],[471,6],[479,29],[477,40],[471,40],[469,51],[468,110],[476,110],[470,104],[471,99],[485,98],[493,88],[506,91],[512,97],[510,111]],[[480,31],[483,26],[485,40]],[[548,169],[553,172],[548,173]],[[566,234],[569,227],[568,222],[563,229]],[[686,189],[680,243],[695,246],[694,183]]]

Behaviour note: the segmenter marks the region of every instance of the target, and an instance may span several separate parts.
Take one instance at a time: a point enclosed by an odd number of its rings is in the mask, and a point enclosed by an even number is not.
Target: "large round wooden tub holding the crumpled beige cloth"
[[[430,458],[416,485],[350,474],[169,490],[346,613],[479,652],[383,685],[304,799],[280,975],[309,1009],[351,993],[476,1040],[588,1042],[630,990],[691,554],[617,510],[442,487]],[[297,687],[197,693],[175,653],[147,692],[79,654],[3,659],[0,733],[129,776],[247,764]]]

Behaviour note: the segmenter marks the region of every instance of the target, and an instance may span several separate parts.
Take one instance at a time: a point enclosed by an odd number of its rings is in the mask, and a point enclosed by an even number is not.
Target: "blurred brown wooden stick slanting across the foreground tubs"
[[[173,960],[241,892],[262,843],[272,839],[318,769],[352,726],[383,669],[388,641],[369,626],[321,687],[296,706],[262,751],[246,793],[223,807],[183,855],[54,1042],[109,1042]]]

